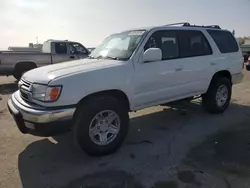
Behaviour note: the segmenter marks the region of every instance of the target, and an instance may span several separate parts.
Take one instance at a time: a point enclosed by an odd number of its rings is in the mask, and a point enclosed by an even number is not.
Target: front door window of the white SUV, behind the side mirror
[[[148,48],[160,48],[162,59],[179,57],[177,33],[174,31],[157,31],[147,41],[144,50]]]

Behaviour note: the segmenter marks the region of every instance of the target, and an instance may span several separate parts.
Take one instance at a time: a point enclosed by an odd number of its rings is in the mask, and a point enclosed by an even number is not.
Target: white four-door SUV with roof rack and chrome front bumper
[[[113,34],[87,59],[25,73],[8,107],[21,132],[72,128],[86,153],[103,155],[122,144],[129,111],[200,95],[208,112],[222,113],[242,78],[229,31],[171,24]]]

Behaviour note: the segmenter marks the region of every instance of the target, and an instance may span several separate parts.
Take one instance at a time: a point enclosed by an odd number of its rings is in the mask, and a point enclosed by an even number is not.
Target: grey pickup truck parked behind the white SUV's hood
[[[82,44],[72,41],[48,40],[41,52],[0,51],[0,75],[13,75],[17,80],[31,69],[85,58],[90,54]]]

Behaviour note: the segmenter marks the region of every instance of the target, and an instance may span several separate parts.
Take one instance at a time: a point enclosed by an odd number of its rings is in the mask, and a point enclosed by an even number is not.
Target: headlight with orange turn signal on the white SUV
[[[32,97],[39,101],[52,102],[58,99],[61,86],[46,86],[40,84],[32,85]]]

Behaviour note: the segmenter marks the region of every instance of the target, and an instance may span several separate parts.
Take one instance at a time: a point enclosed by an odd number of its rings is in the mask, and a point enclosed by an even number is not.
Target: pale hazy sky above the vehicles
[[[140,26],[189,21],[250,35],[250,0],[0,0],[0,49],[47,39],[98,45]]]

